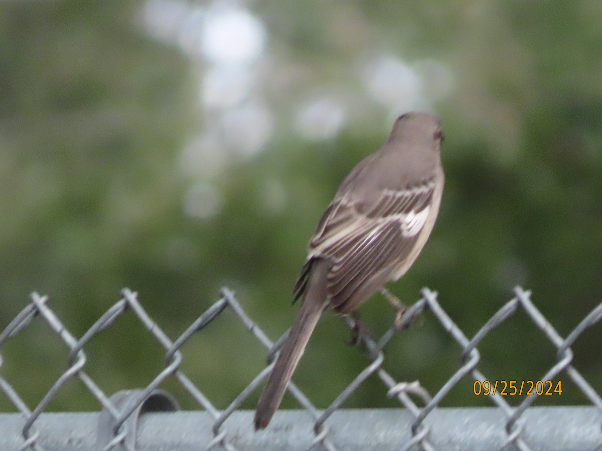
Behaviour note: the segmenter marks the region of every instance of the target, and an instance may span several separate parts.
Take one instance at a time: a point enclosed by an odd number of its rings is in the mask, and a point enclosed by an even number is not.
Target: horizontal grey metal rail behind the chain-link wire
[[[39,428],[48,431],[39,444],[48,450],[96,449],[98,413],[45,413]],[[315,441],[311,416],[303,410],[276,413],[273,428],[255,432],[253,411],[236,411],[228,419],[228,436],[238,449],[306,450]],[[602,415],[595,407],[533,407],[524,420],[523,439],[533,450],[583,450],[602,443]],[[339,449],[397,449],[412,439],[412,414],[406,409],[340,409],[329,419],[329,434]],[[0,449],[19,449],[23,440],[19,414],[0,414]],[[495,407],[438,408],[426,420],[435,449],[501,449],[507,443],[503,412]],[[470,427],[467,427],[470,425]],[[576,431],[579,431],[576,434]],[[201,411],[146,413],[135,446],[141,450],[198,450],[213,440],[213,420]]]

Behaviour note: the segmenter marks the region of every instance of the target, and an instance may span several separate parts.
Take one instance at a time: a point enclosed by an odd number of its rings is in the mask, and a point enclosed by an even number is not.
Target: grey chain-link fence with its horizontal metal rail
[[[48,296],[33,293],[31,302],[0,334],[0,390],[19,411],[0,413],[0,450],[602,449],[602,398],[571,364],[571,345],[583,331],[600,321],[602,304],[563,338],[530,301],[530,292],[517,287],[514,298],[469,339],[441,308],[437,293],[425,288],[421,299],[403,314],[402,326],[407,327],[424,310],[429,310],[462,348],[458,370],[434,396],[430,396],[418,382],[396,381],[383,369],[382,349],[398,332],[393,326],[379,339],[361,336],[368,351],[367,365],[326,410],[317,410],[303,391],[291,382],[289,390],[303,409],[279,411],[272,425],[260,432],[252,429],[253,412],[239,408],[254,391],[261,390],[262,381],[272,369],[272,364],[256,375],[223,411],[217,409],[180,369],[182,345],[194,334],[201,333],[226,309],[233,311],[241,326],[268,349],[268,362],[273,361],[285,336],[276,343],[270,341],[245,313],[234,293],[226,288],[222,289],[219,301],[174,341],[149,317],[138,301],[137,293],[129,289],[123,289],[122,298],[79,338],[67,330],[49,307]],[[538,385],[530,387],[533,394],[524,395],[520,405],[511,407],[500,395],[501,387],[497,387],[498,391],[494,393],[496,387],[488,386],[488,378],[477,369],[480,360],[477,346],[489,332],[518,310],[523,310],[557,349],[556,364],[541,375],[540,380],[557,381],[561,373],[568,376],[585,394],[591,406],[532,407],[544,388],[554,389],[553,386]],[[95,334],[111,327],[126,311],[131,311],[163,346],[165,364],[147,387],[119,391],[110,396],[85,371],[85,346]],[[67,370],[30,410],[3,375],[1,352],[8,340],[32,322],[40,320],[63,340],[69,355]],[[354,327],[352,318],[345,318],[345,321]],[[400,408],[341,409],[347,397],[373,373],[385,385],[388,396],[399,400]],[[173,397],[158,388],[167,378],[175,378],[202,410],[180,411]],[[492,407],[438,407],[463,378],[471,378],[479,388],[488,389]],[[100,413],[46,412],[58,391],[71,379],[79,379],[100,402]],[[523,387],[520,390],[523,394]],[[524,390],[527,391],[527,387]]]

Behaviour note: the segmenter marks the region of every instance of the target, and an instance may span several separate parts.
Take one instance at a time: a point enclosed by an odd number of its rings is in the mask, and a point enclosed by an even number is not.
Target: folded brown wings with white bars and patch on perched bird
[[[405,189],[383,189],[371,205],[352,196],[337,196],[309,242],[308,263],[296,286],[305,289],[311,260],[329,259],[329,294],[339,307],[383,269],[397,268],[411,253],[426,223],[435,187],[428,180]]]

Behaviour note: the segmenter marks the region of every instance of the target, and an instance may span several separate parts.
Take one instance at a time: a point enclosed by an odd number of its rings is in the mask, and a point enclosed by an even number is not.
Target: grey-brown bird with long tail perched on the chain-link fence
[[[256,431],[272,420],[321,313],[352,313],[420,254],[441,204],[443,140],[436,115],[402,114],[380,150],[341,182],[309,241],[293,290],[301,306],[259,398]]]

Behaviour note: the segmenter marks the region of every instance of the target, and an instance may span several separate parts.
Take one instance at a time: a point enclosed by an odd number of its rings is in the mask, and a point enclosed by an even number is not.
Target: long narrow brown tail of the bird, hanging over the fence
[[[330,263],[327,260],[316,259],[312,262],[305,298],[259,398],[255,411],[255,430],[264,429],[272,420],[287,389],[288,381],[293,376],[303,351],[305,351],[309,337],[314,331],[315,325],[318,324],[320,314],[327,305],[329,270]]]

